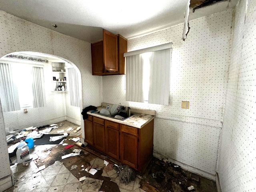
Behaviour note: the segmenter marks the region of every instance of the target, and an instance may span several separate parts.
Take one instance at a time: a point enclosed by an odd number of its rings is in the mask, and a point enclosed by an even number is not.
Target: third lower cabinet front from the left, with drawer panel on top
[[[106,154],[119,160],[119,124],[105,120]]]

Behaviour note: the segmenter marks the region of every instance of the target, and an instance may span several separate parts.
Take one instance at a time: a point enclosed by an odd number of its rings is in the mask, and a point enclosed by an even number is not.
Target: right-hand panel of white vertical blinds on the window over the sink
[[[168,105],[170,92],[171,49],[153,52],[150,62],[148,103]]]

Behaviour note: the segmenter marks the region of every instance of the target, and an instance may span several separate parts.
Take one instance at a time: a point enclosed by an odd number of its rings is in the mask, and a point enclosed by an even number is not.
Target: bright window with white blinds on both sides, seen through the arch
[[[42,67],[0,63],[3,112],[43,107],[46,103]]]

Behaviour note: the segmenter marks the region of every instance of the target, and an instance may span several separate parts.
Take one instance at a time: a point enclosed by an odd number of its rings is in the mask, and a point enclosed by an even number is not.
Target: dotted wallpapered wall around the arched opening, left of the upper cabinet
[[[101,105],[102,78],[91,75],[90,43],[38,26],[4,11],[0,11],[0,23],[0,57],[17,51],[35,51],[66,58],[81,72],[83,108],[89,105]],[[58,95],[55,102],[58,103]],[[58,107],[62,109],[62,106]],[[5,128],[2,110],[0,114],[0,132],[2,133],[0,134],[2,148],[0,170],[9,174],[10,166],[6,164],[8,153],[5,134],[3,134]],[[15,122],[15,119],[13,121]],[[84,137],[84,134],[82,136]],[[0,179],[2,176],[4,175],[1,174]]]

